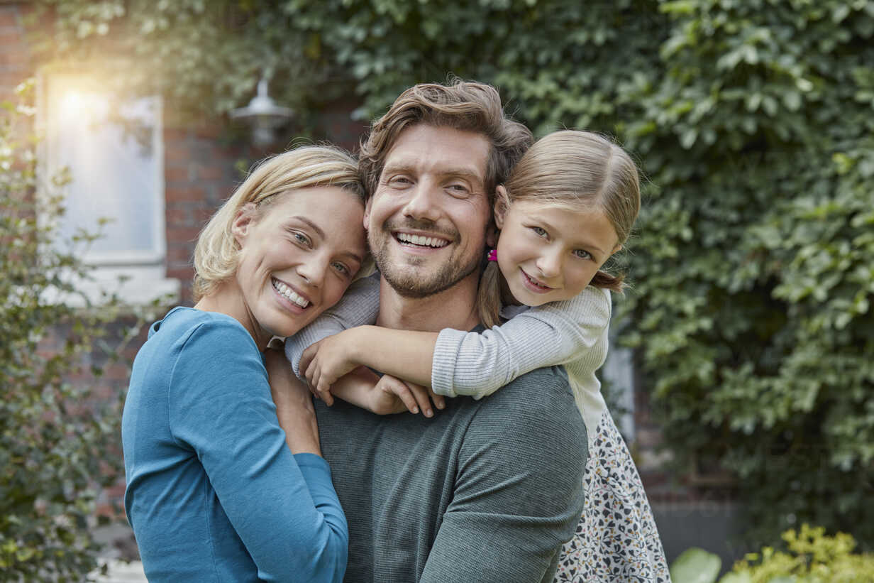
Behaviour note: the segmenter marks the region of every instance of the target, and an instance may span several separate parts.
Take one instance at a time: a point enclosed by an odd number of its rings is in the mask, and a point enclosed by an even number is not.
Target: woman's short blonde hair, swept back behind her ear
[[[194,301],[216,290],[237,270],[239,243],[231,226],[238,211],[253,203],[266,207],[309,186],[339,186],[364,204],[364,186],[355,158],[333,146],[302,146],[263,160],[225,200],[198,235],[194,248]]]

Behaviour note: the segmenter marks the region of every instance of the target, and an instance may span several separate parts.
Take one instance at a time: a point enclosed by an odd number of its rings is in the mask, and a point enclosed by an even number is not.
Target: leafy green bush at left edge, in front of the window
[[[78,257],[94,236],[81,233],[66,250],[55,241],[62,197],[46,193],[63,180],[44,185],[37,202],[35,142],[25,137],[30,121],[21,123],[32,109],[2,107],[0,580],[80,581],[99,551],[88,530],[96,495],[121,471],[121,392],[97,398],[101,368],[89,366],[118,359],[107,324],[121,306],[113,298],[100,308],[58,301],[87,277]]]

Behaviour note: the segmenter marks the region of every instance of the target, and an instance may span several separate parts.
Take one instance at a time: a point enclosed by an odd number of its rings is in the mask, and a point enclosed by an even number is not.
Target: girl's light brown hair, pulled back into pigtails
[[[591,131],[561,130],[540,138],[525,152],[506,184],[509,207],[517,200],[570,210],[597,208],[619,237],[628,240],[641,209],[637,166],[628,153]],[[624,276],[599,270],[591,285],[621,292]],[[478,294],[480,320],[486,327],[500,323],[501,272],[490,261],[483,270]]]

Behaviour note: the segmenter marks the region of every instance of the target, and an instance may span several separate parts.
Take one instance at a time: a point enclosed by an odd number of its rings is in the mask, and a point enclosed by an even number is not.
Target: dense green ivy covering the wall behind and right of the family
[[[65,50],[139,59],[179,109],[243,104],[262,62],[296,107],[354,92],[363,118],[452,73],[539,135],[618,137],[648,192],[617,303],[676,462],[730,470],[760,541],[874,545],[871,0],[43,4]]]

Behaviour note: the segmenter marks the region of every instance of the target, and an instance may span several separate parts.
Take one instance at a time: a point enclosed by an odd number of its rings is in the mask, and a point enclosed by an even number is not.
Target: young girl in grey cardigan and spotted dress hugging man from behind
[[[667,581],[649,502],[595,376],[607,357],[609,291],[622,287],[621,277],[600,268],[628,239],[639,209],[635,164],[619,146],[586,131],[544,137],[497,188],[500,235],[479,292],[480,319],[490,329],[430,334],[362,326],[378,308],[378,282],[370,278],[329,318],[287,342],[295,374],[328,404],[334,393],[374,412],[398,411],[402,402],[430,417],[429,397],[441,408],[443,397],[481,398],[532,369],[564,365],[590,455],[586,508],[556,580]],[[348,329],[325,337],[338,320]],[[359,385],[344,376],[358,366],[385,376],[376,387]]]

